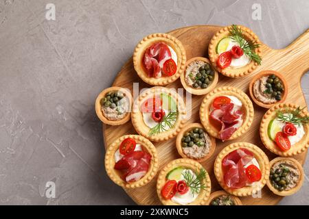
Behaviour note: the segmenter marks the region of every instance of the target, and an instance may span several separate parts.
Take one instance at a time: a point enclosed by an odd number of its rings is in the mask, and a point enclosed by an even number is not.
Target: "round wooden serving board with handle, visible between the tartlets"
[[[172,34],[181,40],[187,53],[187,60],[189,60],[190,58],[196,56],[208,56],[207,51],[209,40],[220,28],[222,27],[199,25],[176,29],[174,31],[170,31],[169,34]],[[141,38],[143,37],[144,36],[141,36]],[[258,66],[258,68],[247,77],[232,79],[219,74],[219,82],[216,87],[234,86],[242,89],[249,96],[249,83],[255,74],[259,73],[261,70],[277,70],[279,73],[282,73],[282,75],[286,77],[286,81],[288,81],[289,89],[286,103],[295,103],[297,105],[306,106],[306,99],[301,91],[300,80],[301,76],[304,75],[304,73],[306,73],[309,69],[309,29],[285,49],[271,49],[266,46],[266,44],[262,44],[262,60],[262,65]],[[139,89],[151,87],[139,79],[134,70],[133,60],[131,57],[130,60],[128,60],[128,62],[123,66],[122,70],[118,73],[113,86],[129,88],[133,91],[134,82],[139,82]],[[169,84],[167,87],[183,88],[181,86],[180,79]],[[187,124],[201,123],[198,116],[198,111],[200,109],[200,104],[203,97],[204,96],[192,96],[192,116],[189,120],[187,120]],[[216,140],[217,146],[214,155],[206,162],[202,163],[211,177],[211,192],[221,190],[220,185],[218,185],[216,181],[216,177],[214,177],[213,166],[216,155],[218,155],[218,153],[228,144],[233,142],[251,142],[260,146],[260,148],[266,152],[266,155],[268,155],[270,160],[275,157],[273,153],[264,147],[262,141],[260,140],[260,120],[266,112],[266,109],[259,107],[254,103],[253,105],[255,108],[255,118],[249,131],[244,136],[236,140],[227,142]],[[104,145],[107,147],[119,136],[134,133],[137,132],[130,121],[120,126],[103,125]],[[159,153],[160,168],[165,166],[165,164],[168,164],[168,162],[172,159],[180,158],[180,155],[176,150],[175,141],[176,139],[174,138],[164,142],[154,142]],[[299,160],[301,164],[304,164],[306,155],[307,152],[302,153],[295,158]],[[145,185],[142,188],[126,190],[126,193],[133,199],[133,201],[135,201],[135,203],[139,205],[160,205],[161,203],[157,197],[156,183],[157,177],[152,179],[148,185]],[[282,199],[282,197],[273,194],[265,185],[260,198],[253,198],[252,196],[249,196],[240,197],[240,199],[243,205],[275,205]]]

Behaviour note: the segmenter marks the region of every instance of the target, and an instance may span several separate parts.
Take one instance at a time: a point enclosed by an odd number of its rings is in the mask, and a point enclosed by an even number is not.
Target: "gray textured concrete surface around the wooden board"
[[[45,19],[47,3],[56,21]],[[253,3],[262,21],[251,18]],[[93,103],[135,44],[153,32],[237,23],[279,49],[308,29],[308,10],[308,0],[0,0],[0,204],[133,205],[106,177]],[[307,103],[308,82],[305,75]],[[47,181],[56,198],[45,197]],[[306,177],[280,204],[308,205],[308,190]]]

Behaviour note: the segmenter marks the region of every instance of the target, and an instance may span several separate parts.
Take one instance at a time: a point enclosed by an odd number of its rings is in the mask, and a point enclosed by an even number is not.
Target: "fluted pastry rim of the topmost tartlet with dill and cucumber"
[[[209,60],[211,61],[212,66],[218,70],[222,75],[225,75],[227,77],[243,77],[245,75],[249,75],[250,73],[255,70],[255,68],[258,67],[257,62],[253,62],[251,60],[249,64],[242,66],[240,68],[220,68],[217,66],[217,59],[218,59],[218,53],[216,52],[216,47],[220,40],[222,38],[230,36],[229,29],[231,29],[232,26],[224,27],[220,29],[210,40],[209,46],[208,46],[208,55],[209,55]],[[242,30],[242,36],[244,36],[244,39],[250,42],[254,42],[255,44],[260,44],[260,40],[258,36],[256,36],[253,31],[247,27],[244,27],[242,25],[237,25],[239,29]],[[255,53],[258,55],[261,55],[261,48],[255,48],[254,49]]]

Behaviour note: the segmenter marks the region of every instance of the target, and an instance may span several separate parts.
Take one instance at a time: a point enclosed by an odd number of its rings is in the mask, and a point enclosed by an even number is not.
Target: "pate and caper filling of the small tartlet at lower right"
[[[301,173],[294,162],[281,160],[271,167],[271,184],[276,190],[288,191],[297,186]]]

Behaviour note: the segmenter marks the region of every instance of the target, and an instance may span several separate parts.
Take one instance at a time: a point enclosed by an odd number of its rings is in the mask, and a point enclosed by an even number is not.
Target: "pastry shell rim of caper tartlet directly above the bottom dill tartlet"
[[[190,157],[187,157],[187,155],[185,155],[185,153],[183,152],[183,147],[181,146],[181,139],[183,138],[183,135],[187,132],[190,131],[194,128],[200,128],[200,129],[204,129],[203,125],[201,125],[200,123],[192,123],[190,125],[186,125],[185,127],[183,127],[183,129],[181,129],[181,131],[179,132],[179,134],[177,135],[176,138],[176,149],[179,153],[179,155],[181,155],[181,157],[183,158],[188,158],[188,159],[192,159]],[[205,133],[207,134],[207,132],[205,131]],[[201,159],[194,159],[196,162],[204,162],[205,160],[207,160],[209,157],[211,157],[211,155],[213,155],[215,149],[216,149],[216,139],[212,136],[209,136],[210,141],[211,141],[211,145],[209,148],[209,153],[207,153],[207,155],[205,155],[205,157],[201,158]]]

